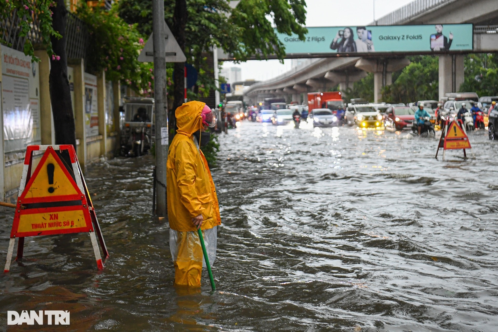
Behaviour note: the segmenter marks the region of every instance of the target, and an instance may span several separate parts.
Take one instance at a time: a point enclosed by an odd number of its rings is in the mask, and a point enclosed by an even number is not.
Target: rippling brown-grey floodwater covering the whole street
[[[201,290],[173,286],[153,159],[117,158],[85,175],[105,269],[87,233],[26,238],[0,276],[0,331],[497,331],[487,132],[470,134],[476,160],[454,150],[446,162],[436,138],[408,132],[244,121],[219,142],[217,291],[206,271]],[[1,264],[12,217],[1,212]],[[71,325],[7,328],[7,310],[68,310]]]

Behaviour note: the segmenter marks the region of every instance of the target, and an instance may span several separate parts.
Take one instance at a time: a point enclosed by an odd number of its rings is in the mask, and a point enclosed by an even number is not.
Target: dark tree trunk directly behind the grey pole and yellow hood
[[[187,1],[175,0],[175,12],[173,15],[173,34],[180,46],[185,51],[185,25],[187,23]],[[173,76],[173,108],[168,111],[168,121],[171,129],[169,130],[169,142],[173,140],[176,133],[175,110],[183,104],[184,98],[184,67],[183,62],[175,62]]]

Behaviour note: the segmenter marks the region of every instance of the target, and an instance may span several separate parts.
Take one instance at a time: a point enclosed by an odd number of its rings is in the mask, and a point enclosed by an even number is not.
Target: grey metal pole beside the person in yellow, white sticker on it
[[[166,216],[166,158],[168,156],[168,100],[166,98],[166,54],[164,1],[152,0],[152,38],[154,53],[156,215]]]

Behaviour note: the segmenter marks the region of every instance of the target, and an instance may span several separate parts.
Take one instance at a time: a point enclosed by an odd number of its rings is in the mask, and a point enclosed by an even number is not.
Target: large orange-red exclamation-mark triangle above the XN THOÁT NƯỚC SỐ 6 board
[[[81,200],[83,194],[54,149],[47,149],[22,191],[21,204]]]

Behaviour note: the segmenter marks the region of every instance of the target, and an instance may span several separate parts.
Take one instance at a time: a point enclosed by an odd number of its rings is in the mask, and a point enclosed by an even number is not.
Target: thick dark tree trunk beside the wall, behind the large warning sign
[[[67,10],[64,0],[57,0],[53,12],[52,27],[62,35],[61,39],[51,37],[52,48],[60,59],[50,59],[50,101],[54,116],[55,144],[72,144],[76,150],[76,136],[74,126],[71,92],[67,79],[66,58],[66,16]],[[103,120],[103,119],[102,119]],[[85,142],[82,142],[85,144]]]

